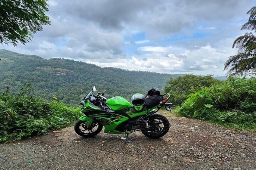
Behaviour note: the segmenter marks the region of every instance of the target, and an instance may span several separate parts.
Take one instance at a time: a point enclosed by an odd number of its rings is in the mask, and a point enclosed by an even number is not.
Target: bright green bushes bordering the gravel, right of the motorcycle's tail
[[[256,79],[229,77],[227,81],[188,95],[177,108],[186,117],[236,129],[256,131]]]

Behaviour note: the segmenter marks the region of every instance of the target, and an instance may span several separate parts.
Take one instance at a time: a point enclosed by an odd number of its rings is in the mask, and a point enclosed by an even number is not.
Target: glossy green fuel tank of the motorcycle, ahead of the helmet
[[[112,110],[122,110],[126,107],[132,107],[132,105],[125,98],[116,96],[107,100],[107,105]]]

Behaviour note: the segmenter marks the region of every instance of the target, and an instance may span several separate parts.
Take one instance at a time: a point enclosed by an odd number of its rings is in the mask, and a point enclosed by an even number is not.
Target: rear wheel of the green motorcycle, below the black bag
[[[164,136],[170,128],[168,119],[160,114],[153,114],[149,117],[148,128],[142,130],[142,133],[151,138],[158,139]]]

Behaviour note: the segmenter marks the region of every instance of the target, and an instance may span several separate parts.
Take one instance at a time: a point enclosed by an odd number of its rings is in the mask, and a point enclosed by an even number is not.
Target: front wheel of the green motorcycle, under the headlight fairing
[[[103,126],[98,122],[93,121],[90,126],[87,127],[88,122],[83,122],[78,120],[75,123],[75,132],[82,137],[93,137],[96,134],[100,133]]]

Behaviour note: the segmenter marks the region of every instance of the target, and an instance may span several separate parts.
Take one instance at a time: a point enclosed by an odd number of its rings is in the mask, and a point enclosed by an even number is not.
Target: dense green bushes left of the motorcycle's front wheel
[[[28,84],[15,96],[8,87],[0,94],[0,142],[45,134],[72,124],[81,116],[79,108],[57,101],[49,103],[33,97],[32,92]]]

